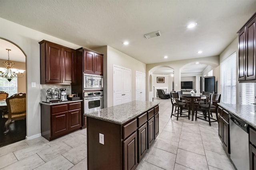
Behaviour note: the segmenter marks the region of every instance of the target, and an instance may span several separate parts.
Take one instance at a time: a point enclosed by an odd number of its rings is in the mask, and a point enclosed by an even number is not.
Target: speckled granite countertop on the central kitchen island
[[[132,101],[84,113],[84,115],[116,124],[123,124],[158,104],[159,102]]]

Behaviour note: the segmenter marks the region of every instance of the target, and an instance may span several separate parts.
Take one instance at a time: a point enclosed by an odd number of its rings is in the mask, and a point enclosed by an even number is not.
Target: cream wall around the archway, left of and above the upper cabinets
[[[40,45],[42,39],[64,45],[73,49],[80,46],[50,35],[35,31],[28,27],[0,18],[0,37],[12,41],[26,54],[26,101],[27,101],[27,139],[41,134],[40,120]],[[31,87],[36,82],[36,88]]]

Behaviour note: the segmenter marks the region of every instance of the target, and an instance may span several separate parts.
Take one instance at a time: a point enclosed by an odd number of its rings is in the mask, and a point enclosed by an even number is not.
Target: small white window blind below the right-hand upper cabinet
[[[255,83],[240,83],[240,104],[255,103]]]

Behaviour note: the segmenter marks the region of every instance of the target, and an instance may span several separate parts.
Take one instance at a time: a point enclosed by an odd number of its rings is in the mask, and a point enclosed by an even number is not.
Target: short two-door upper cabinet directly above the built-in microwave
[[[103,75],[103,55],[96,53],[94,51],[80,48],[77,51],[82,51],[82,53],[78,53],[83,57],[83,72],[88,74],[97,74]]]

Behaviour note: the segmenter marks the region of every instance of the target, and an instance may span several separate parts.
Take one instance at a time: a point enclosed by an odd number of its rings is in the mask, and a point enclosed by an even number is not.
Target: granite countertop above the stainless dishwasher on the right
[[[256,105],[236,105],[236,104],[224,104],[218,103],[219,106],[227,109],[234,116],[242,119],[248,125],[251,125],[256,129]]]

